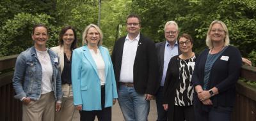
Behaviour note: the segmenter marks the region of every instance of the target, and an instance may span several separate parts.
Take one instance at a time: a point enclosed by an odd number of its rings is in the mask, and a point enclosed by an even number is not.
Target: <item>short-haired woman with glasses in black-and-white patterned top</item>
[[[164,110],[167,110],[168,120],[195,120],[193,110],[192,73],[196,56],[192,52],[193,39],[189,34],[182,34],[178,39],[180,55],[172,57],[168,65],[164,82]]]

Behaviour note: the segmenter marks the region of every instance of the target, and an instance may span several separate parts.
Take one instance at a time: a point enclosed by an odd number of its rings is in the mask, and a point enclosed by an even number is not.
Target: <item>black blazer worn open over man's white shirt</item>
[[[115,42],[112,52],[112,62],[115,71],[116,85],[119,87],[120,71],[125,37],[119,38]],[[157,78],[157,53],[154,42],[140,34],[138,48],[133,64],[134,89],[138,94],[156,94],[159,85]]]

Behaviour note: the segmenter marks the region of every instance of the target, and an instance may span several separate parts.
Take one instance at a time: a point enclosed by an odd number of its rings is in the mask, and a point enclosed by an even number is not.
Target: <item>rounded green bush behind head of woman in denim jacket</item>
[[[29,13],[19,13],[12,20],[7,20],[0,31],[0,57],[20,53],[26,48],[33,46],[31,32],[33,25],[45,24],[49,27],[51,38],[47,45],[56,45],[56,31],[58,28],[50,24],[52,17],[45,14],[31,15]]]

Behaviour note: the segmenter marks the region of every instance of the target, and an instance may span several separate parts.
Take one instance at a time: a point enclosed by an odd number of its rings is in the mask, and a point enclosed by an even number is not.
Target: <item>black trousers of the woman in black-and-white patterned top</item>
[[[192,106],[174,106],[173,119],[175,121],[195,121],[195,112]]]

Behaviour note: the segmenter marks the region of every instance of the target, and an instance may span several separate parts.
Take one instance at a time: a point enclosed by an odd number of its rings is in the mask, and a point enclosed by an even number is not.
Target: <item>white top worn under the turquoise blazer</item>
[[[102,55],[100,53],[99,48],[97,49],[97,53],[95,53],[93,50],[90,49],[90,52],[92,54],[92,58],[97,66],[98,74],[100,78],[100,85],[105,85],[106,83],[106,77],[105,77],[105,63],[102,58]]]

